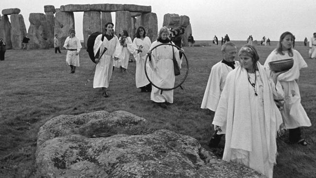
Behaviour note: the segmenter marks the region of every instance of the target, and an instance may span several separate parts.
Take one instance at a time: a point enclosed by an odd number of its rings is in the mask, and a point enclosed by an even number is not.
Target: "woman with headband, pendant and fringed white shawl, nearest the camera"
[[[228,73],[212,124],[219,132],[226,132],[223,160],[244,164],[272,178],[277,131],[282,123],[274,102],[283,97],[277,81],[281,72],[269,75],[258,62],[254,46],[242,47],[238,55],[241,66]]]

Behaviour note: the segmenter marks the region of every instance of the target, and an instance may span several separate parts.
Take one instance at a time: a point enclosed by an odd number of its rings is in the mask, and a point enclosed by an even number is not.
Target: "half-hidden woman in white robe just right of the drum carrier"
[[[121,33],[122,36],[120,36],[119,41],[121,45],[121,55],[122,58],[119,58],[118,60],[113,61],[113,66],[120,68],[126,71],[128,67],[128,60],[129,60],[129,50],[130,46],[132,45],[132,39],[128,36],[128,33],[126,30],[123,30]]]

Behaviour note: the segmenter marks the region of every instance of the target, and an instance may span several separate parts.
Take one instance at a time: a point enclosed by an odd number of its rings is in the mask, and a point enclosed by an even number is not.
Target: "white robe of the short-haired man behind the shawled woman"
[[[240,66],[240,63],[235,61],[234,66]],[[216,110],[229,71],[232,71],[232,68],[222,61],[212,67],[201,104],[202,109]]]

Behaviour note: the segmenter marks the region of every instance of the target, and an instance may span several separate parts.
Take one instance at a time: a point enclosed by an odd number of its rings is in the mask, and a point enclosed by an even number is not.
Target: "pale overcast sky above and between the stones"
[[[279,40],[290,31],[296,41],[310,39],[316,32],[316,0],[1,0],[0,11],[19,8],[29,29],[30,13],[44,13],[44,5],[59,8],[66,4],[116,3],[150,5],[157,14],[158,29],[167,13],[190,18],[196,40],[211,40],[228,34],[231,40],[246,40],[249,35],[261,40],[263,36]],[[83,39],[83,13],[76,12],[76,36]],[[112,13],[115,21],[115,14]]]

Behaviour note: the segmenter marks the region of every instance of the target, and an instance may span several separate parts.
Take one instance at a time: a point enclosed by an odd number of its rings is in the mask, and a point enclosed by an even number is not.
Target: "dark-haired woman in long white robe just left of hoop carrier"
[[[146,72],[149,78],[151,78],[151,68],[149,63],[145,64],[146,53],[150,49],[151,41],[148,36],[146,36],[145,28],[140,26],[136,31],[136,38],[134,38],[133,44],[130,48],[130,52],[134,55],[136,61],[136,73],[135,73],[135,82],[136,87],[140,88],[141,92],[151,92],[152,87],[148,81],[145,74],[145,65]]]

